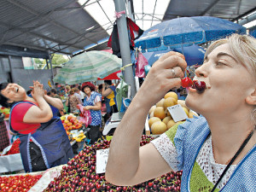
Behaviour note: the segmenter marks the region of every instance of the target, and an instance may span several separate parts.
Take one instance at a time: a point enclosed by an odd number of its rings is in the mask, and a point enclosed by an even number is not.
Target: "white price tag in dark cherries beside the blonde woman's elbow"
[[[96,174],[106,172],[109,148],[96,150]]]

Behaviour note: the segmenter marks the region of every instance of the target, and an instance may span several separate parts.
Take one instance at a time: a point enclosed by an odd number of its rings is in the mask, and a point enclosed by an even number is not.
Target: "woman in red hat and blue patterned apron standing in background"
[[[90,82],[82,84],[84,90],[84,110],[90,110],[91,123],[89,125],[90,143],[95,143],[102,136],[102,95],[95,91],[95,85]]]

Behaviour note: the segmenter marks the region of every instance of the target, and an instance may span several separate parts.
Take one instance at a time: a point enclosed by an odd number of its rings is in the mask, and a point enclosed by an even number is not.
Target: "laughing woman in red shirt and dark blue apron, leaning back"
[[[0,104],[10,107],[10,130],[20,137],[20,154],[26,172],[44,171],[66,164],[73,150],[60,118],[50,108],[63,108],[60,99],[44,94],[33,82],[32,97],[19,84],[0,84]]]

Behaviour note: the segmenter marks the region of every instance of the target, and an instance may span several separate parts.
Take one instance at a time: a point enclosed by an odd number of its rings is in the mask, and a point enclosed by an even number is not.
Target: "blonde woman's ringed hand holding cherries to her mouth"
[[[173,51],[166,53],[154,62],[137,95],[144,98],[144,102],[147,102],[144,104],[154,105],[168,90],[181,85],[186,67],[182,54]]]

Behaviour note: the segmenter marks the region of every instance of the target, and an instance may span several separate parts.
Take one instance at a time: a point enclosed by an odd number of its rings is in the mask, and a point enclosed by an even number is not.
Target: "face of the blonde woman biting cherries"
[[[247,106],[246,97],[255,89],[255,81],[246,67],[222,44],[207,55],[195,70],[195,79],[205,81],[207,89],[197,93],[189,88],[186,104],[203,115],[230,114]]]

